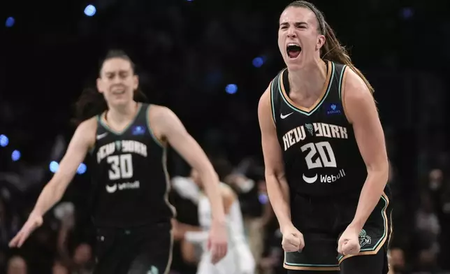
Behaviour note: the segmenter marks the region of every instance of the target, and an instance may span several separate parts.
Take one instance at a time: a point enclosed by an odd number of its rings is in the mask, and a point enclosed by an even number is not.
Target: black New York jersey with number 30
[[[135,119],[122,132],[97,116],[92,150],[96,226],[130,227],[170,222],[166,146],[152,134],[148,104],[140,103]]]

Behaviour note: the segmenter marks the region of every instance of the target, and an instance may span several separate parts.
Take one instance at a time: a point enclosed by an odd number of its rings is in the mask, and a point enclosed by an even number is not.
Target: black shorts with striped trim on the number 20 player
[[[356,255],[375,255],[382,252],[382,257],[377,255],[365,258],[373,258],[372,265],[367,262],[365,265],[368,269],[380,269],[379,274],[389,271],[387,251],[392,231],[389,196],[389,189],[386,188],[359,235],[361,251]],[[353,220],[358,199],[359,196],[294,196],[291,203],[292,222],[303,233],[305,248],[301,252],[286,252],[284,268],[300,271],[340,271],[342,261],[351,256],[337,254],[337,240]],[[361,273],[368,272],[361,270]]]

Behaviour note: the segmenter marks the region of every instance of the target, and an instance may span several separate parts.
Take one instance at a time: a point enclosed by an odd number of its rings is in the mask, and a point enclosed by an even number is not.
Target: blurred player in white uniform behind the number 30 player
[[[191,171],[191,179],[203,190],[199,173]],[[217,264],[211,264],[211,252],[205,245],[205,232],[211,226],[211,205],[208,198],[201,192],[198,197],[198,221],[201,227],[177,223],[175,227],[184,234],[184,245],[201,245],[203,253],[198,264],[197,274],[253,274],[255,261],[250,247],[245,240],[244,222],[240,211],[240,203],[231,187],[221,184],[222,199],[226,212],[228,230],[228,252],[226,257]],[[193,250],[193,249],[191,249]]]

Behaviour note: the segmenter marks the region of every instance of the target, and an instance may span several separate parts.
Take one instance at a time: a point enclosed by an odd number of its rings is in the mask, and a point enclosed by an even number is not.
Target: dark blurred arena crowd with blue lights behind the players
[[[180,117],[222,180],[239,193],[249,238],[256,239],[259,273],[284,273],[280,235],[264,193],[257,105],[284,65],[277,23],[287,3],[2,1],[0,273],[7,266],[10,274],[66,273],[61,266],[67,262],[73,273],[89,273],[89,166],[79,168],[66,203],[45,216],[22,250],[9,250],[7,243],[56,170],[74,131],[73,103],[83,88],[94,85],[99,60],[110,48],[129,53],[150,101]],[[313,3],[375,87],[395,194],[395,273],[450,271],[449,2]],[[188,172],[172,153],[171,175]],[[249,191],[239,185],[251,180]],[[195,206],[177,193],[172,199],[184,205],[180,219],[196,224]],[[71,212],[72,205],[74,224],[61,213]],[[259,230],[264,233],[252,234]],[[20,258],[28,272],[22,272]],[[183,260],[175,245],[173,273],[195,273],[195,264]]]

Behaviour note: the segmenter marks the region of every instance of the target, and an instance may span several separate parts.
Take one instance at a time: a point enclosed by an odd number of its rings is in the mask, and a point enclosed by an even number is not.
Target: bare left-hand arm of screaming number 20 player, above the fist
[[[280,223],[280,229],[292,225],[289,206],[289,186],[284,176],[282,152],[270,108],[270,89],[261,96],[258,106],[259,127],[266,166],[266,184],[270,203]]]

